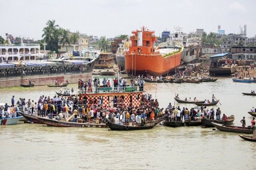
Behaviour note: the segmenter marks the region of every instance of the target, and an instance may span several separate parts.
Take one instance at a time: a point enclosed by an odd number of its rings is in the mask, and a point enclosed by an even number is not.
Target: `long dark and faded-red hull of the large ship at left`
[[[34,82],[35,86],[42,86],[46,84],[52,84],[52,80],[58,80],[58,82],[66,82],[68,80],[70,83],[77,83],[78,79],[88,80],[92,79],[92,71],[94,67],[95,60],[86,64],[79,64],[80,69],[78,69],[78,64],[74,64],[74,68],[71,69],[68,66],[67,69],[57,68],[50,70],[50,66],[35,66],[35,70],[32,71],[32,67],[26,67],[25,75],[22,76],[20,69],[18,68],[18,72],[15,72],[16,68],[9,68],[9,73],[1,72],[0,78],[0,87],[14,87],[20,86],[20,84],[24,84],[26,79],[31,78],[32,82]],[[42,67],[42,71],[40,70]],[[56,66],[55,66],[56,67]]]

